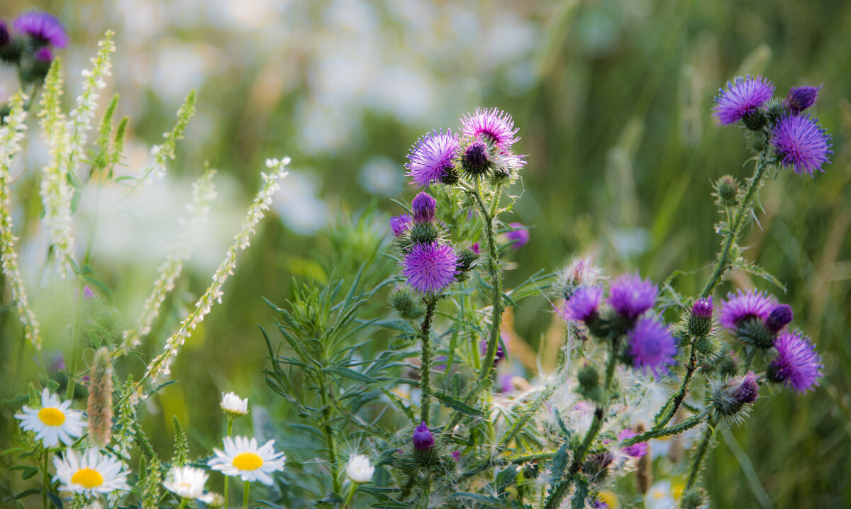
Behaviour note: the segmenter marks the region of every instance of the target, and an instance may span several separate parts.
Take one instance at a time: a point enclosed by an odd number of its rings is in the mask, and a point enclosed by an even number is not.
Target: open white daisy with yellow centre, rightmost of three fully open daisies
[[[226,476],[239,476],[243,481],[260,481],[271,485],[271,472],[283,469],[283,461],[287,459],[283,453],[272,449],[274,440],[257,447],[257,439],[248,440],[245,437],[225,438],[225,451],[213,449],[215,457],[208,461],[213,470],[218,470]]]

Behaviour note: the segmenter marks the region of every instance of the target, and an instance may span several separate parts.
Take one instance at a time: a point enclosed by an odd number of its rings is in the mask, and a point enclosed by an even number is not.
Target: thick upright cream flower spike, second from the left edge
[[[60,274],[66,277],[66,262],[71,257],[71,198],[64,161],[68,154],[68,129],[61,107],[62,75],[60,59],[54,60],[44,80],[41,118],[44,139],[48,142],[49,162],[44,166],[41,189],[44,215],[42,222],[54,246]]]

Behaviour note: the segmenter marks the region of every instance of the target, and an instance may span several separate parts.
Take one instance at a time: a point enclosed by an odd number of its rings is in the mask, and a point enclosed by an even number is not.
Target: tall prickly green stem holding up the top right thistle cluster
[[[753,177],[751,177],[751,183],[748,185],[747,191],[745,192],[745,197],[742,199],[741,203],[739,203],[739,207],[736,208],[734,214],[730,214],[728,212],[728,219],[732,220],[732,223],[728,225],[727,238],[724,240],[724,245],[721,250],[721,254],[718,256],[718,260],[715,266],[715,271],[712,272],[712,276],[709,278],[709,281],[706,282],[706,285],[703,291],[700,293],[700,299],[705,299],[706,297],[712,295],[712,292],[717,287],[718,283],[721,282],[721,277],[724,272],[727,271],[728,267],[728,258],[730,255],[730,251],[733,249],[733,245],[739,237],[741,232],[741,227],[744,224],[745,215],[751,210],[751,203],[753,203],[754,198],[757,196],[757,191],[759,190],[760,185],[762,184],[762,179],[765,178],[765,170],[768,169],[769,161],[768,161],[768,152],[770,151],[770,145],[766,144],[765,149],[759,154],[757,157],[757,166],[754,169]],[[674,395],[672,401],[673,404],[671,409],[663,416],[662,420],[656,423],[654,429],[659,429],[665,426],[674,415],[677,414],[677,409],[680,408],[680,405],[683,403],[683,399],[685,398],[686,392],[688,392],[688,382],[691,380],[691,377],[694,375],[694,371],[697,368],[697,338],[694,337],[691,339],[691,351],[688,354],[688,367],[686,369],[685,376],[683,376],[683,384],[680,386],[680,390],[677,394]]]

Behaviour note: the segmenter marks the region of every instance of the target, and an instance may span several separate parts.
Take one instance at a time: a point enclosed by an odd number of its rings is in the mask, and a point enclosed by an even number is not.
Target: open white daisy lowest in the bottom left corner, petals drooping
[[[61,482],[60,490],[83,493],[86,498],[115,490],[129,491],[129,471],[111,455],[101,454],[98,449],[87,449],[82,457],[77,457],[73,449],[67,449],[64,456],[54,458],[54,481]]]

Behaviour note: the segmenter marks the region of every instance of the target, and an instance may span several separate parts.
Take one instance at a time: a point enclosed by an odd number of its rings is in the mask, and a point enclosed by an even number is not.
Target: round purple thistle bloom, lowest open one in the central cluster
[[[441,243],[416,243],[405,255],[402,274],[420,294],[437,295],[455,280],[458,255],[452,246]]]

